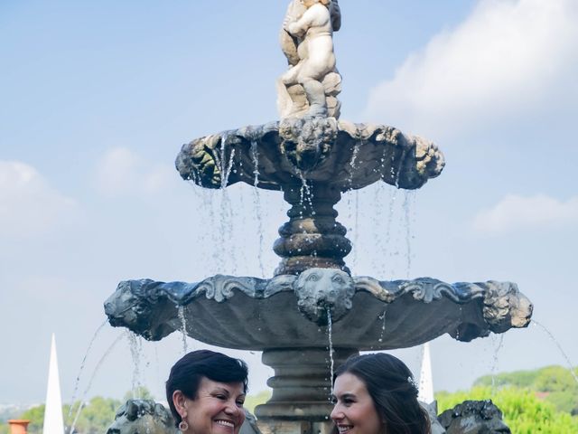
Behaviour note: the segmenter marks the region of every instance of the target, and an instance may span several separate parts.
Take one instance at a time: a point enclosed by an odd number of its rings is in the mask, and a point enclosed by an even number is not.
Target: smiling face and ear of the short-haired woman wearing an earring
[[[180,394],[180,395],[179,395]],[[182,418],[189,424],[187,433],[201,434],[238,434],[245,421],[245,392],[242,382],[213,382],[203,377],[194,400],[184,397],[181,391],[172,395],[179,414],[186,411]]]

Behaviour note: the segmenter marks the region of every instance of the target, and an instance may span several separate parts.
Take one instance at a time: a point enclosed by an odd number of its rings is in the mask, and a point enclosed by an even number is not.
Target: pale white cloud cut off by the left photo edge
[[[69,219],[76,203],[31,165],[0,161],[0,237],[31,237]]]

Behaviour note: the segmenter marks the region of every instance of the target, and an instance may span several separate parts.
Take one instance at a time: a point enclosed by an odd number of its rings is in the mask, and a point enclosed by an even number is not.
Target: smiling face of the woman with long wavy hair
[[[333,386],[335,407],[331,419],[341,433],[384,434],[385,425],[378,415],[365,383],[352,373],[342,373]]]

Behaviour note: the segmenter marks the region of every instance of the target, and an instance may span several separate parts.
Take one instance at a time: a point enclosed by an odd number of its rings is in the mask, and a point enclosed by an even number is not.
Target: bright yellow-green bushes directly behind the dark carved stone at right
[[[491,399],[504,413],[504,421],[516,434],[575,434],[578,418],[557,411],[549,402],[541,401],[527,389],[501,388],[492,393],[489,387],[474,387],[467,392],[436,394],[439,412],[452,409],[466,400]]]

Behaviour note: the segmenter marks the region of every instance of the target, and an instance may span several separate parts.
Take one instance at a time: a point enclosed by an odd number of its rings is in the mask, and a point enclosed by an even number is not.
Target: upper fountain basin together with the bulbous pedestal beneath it
[[[379,180],[419,188],[444,162],[431,142],[392,127],[291,118],[193,140],[176,165],[184,179],[203,187],[245,182],[284,191],[292,209],[274,246],[282,258],[275,275],[281,275],[310,268],[349,272],[344,257],[351,244],[333,209],[340,193]]]

